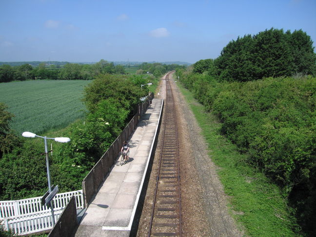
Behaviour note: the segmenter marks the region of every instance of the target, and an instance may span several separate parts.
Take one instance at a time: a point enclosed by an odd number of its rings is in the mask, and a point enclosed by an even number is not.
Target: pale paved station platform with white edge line
[[[75,237],[128,237],[162,111],[162,99],[153,99],[130,140],[129,162],[112,167],[86,209]]]

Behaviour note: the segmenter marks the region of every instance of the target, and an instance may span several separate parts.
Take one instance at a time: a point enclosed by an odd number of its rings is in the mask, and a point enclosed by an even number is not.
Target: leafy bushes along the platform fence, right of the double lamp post
[[[53,156],[52,176],[60,190],[79,189],[86,173],[118,137],[145,92],[135,85],[138,81],[135,77],[99,75],[85,88],[90,113],[85,121],[67,129],[71,142],[62,144]]]

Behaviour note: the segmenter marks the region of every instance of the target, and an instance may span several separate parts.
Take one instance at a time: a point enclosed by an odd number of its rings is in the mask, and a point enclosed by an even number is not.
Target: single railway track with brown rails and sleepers
[[[178,127],[170,74],[166,75],[163,143],[148,237],[182,236]]]

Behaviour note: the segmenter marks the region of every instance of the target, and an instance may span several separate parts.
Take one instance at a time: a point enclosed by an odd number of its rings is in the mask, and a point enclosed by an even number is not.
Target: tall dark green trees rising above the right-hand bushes
[[[193,72],[221,81],[249,81],[267,77],[316,76],[311,37],[302,30],[265,30],[230,41],[217,59],[202,59]]]

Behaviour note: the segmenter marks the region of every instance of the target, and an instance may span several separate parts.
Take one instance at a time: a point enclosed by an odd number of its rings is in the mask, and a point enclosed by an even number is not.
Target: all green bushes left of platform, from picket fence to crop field
[[[58,184],[60,192],[81,189],[82,179],[122,131],[139,99],[148,94],[148,88],[140,87],[141,83],[151,82],[148,79],[148,76],[99,75],[85,89],[84,100],[90,111],[86,118],[59,132],[45,134],[71,139],[64,144],[55,142],[50,155],[52,184]],[[12,115],[5,112],[5,106],[3,111],[7,124]],[[5,134],[6,124],[2,129]],[[36,197],[47,191],[43,141],[20,140],[23,142],[11,151],[4,150],[0,157],[1,200]]]

